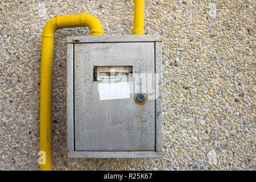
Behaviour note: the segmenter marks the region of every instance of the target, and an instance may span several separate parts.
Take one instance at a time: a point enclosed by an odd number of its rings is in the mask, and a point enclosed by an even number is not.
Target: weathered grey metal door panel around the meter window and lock
[[[155,151],[155,44],[74,45],[75,151]],[[131,66],[130,96],[100,99],[96,66]],[[137,104],[134,95],[148,95]]]

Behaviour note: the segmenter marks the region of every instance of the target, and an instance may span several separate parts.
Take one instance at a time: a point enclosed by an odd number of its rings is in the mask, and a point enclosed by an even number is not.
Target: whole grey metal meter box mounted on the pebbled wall
[[[67,42],[68,157],[162,157],[161,35]]]

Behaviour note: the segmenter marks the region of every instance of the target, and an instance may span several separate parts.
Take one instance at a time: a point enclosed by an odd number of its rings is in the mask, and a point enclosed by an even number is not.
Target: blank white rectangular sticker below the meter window
[[[100,100],[130,98],[129,82],[100,83],[98,84]]]

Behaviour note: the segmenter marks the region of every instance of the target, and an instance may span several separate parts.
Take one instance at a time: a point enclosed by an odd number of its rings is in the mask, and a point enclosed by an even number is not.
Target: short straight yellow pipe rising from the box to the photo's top
[[[145,1],[135,0],[133,35],[145,35],[144,10],[145,10]]]

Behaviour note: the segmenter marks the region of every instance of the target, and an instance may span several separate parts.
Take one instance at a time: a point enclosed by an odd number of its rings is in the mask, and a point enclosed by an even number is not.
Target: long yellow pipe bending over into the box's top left
[[[90,28],[90,35],[104,34],[100,20],[89,14],[57,16],[49,20],[44,27],[42,35],[40,96],[40,154],[43,154],[42,160],[40,160],[41,170],[52,170],[52,73],[54,34],[59,28],[83,26]]]

